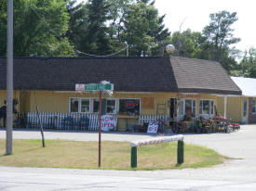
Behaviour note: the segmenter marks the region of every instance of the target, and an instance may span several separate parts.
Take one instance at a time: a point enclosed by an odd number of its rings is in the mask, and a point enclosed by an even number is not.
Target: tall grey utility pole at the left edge
[[[13,0],[7,3],[7,155],[12,154],[13,112]]]

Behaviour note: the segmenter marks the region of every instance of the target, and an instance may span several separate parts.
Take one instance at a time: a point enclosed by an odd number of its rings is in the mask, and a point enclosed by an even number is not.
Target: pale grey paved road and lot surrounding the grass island
[[[5,132],[0,131],[0,138]],[[97,140],[98,134],[47,132],[47,139]],[[144,134],[102,134],[103,140],[132,141]],[[40,138],[15,131],[14,138]],[[186,134],[186,143],[208,146],[236,158],[206,169],[121,172],[0,167],[0,190],[256,190],[256,126],[232,134]]]

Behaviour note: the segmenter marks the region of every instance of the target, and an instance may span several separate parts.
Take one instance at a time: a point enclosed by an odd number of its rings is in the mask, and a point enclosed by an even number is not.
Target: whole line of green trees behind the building
[[[202,32],[171,33],[164,19],[154,0],[14,0],[14,56],[166,56],[172,44],[173,56],[215,60],[232,75],[256,77],[256,49],[235,46],[236,12],[210,14]],[[0,2],[0,34],[6,57],[7,0]]]

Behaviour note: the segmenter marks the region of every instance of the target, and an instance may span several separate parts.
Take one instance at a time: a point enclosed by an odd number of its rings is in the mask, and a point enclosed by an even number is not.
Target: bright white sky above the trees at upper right
[[[78,0],[83,1],[83,0]],[[191,29],[202,32],[209,24],[209,14],[222,10],[236,12],[234,36],[241,41],[236,48],[256,48],[256,0],[155,0],[159,15],[166,14],[165,25],[170,32]]]

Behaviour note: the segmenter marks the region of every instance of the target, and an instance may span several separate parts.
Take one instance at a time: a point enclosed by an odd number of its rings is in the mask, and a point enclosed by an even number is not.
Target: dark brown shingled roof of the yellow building
[[[6,89],[0,57],[0,89]],[[115,84],[121,92],[241,95],[218,62],[184,57],[17,57],[14,89],[74,91],[75,83]]]

